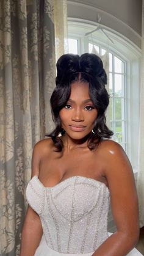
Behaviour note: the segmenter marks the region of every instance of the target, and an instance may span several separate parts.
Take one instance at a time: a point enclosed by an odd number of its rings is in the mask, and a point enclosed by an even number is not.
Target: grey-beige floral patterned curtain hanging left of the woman
[[[53,126],[49,98],[56,76],[54,29],[57,16],[61,26],[67,20],[62,16],[66,6],[67,0],[0,1],[1,256],[20,254],[32,148]],[[56,34],[59,47],[64,34],[64,29],[60,39]]]

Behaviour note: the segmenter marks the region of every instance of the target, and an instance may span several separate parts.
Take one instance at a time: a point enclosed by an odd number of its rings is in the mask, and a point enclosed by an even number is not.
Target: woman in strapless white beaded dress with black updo
[[[106,83],[95,54],[65,54],[57,62],[56,129],[34,147],[21,256],[124,256],[137,243],[134,175],[123,148],[109,140]],[[109,197],[117,225],[110,237]]]

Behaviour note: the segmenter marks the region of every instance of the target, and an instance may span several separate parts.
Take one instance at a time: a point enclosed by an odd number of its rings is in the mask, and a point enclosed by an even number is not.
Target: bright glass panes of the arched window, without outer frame
[[[106,49],[88,42],[88,52],[96,51],[103,55]],[[79,54],[78,40],[68,39],[69,53]],[[108,107],[109,128],[113,131],[113,140],[117,141],[126,150],[126,62],[109,52],[109,95]]]

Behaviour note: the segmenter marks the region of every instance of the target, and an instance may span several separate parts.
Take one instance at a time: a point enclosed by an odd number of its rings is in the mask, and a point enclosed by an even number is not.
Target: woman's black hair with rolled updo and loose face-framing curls
[[[51,95],[52,119],[56,128],[46,136],[51,137],[57,151],[62,151],[63,142],[59,134],[63,136],[59,112],[67,104],[71,93],[71,84],[76,81],[88,82],[89,95],[98,111],[93,133],[88,137],[88,148],[93,150],[103,138],[109,139],[113,132],[107,128],[105,112],[109,105],[109,94],[105,88],[107,84],[106,71],[102,60],[92,53],[84,53],[81,56],[75,54],[63,54],[57,60],[56,87]],[[81,74],[81,76],[79,76]]]

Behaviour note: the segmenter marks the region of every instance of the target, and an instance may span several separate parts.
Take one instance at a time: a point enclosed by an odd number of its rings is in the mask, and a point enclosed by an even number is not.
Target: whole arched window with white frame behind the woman
[[[139,145],[139,84],[140,49],[115,31],[105,29],[112,39],[108,43],[104,33],[93,31],[96,25],[87,21],[68,21],[69,53],[79,54],[92,51],[95,46],[99,54],[109,50],[109,94],[108,124],[114,132],[113,140],[126,151],[134,172],[138,166]],[[107,120],[108,120],[107,119]]]

